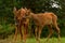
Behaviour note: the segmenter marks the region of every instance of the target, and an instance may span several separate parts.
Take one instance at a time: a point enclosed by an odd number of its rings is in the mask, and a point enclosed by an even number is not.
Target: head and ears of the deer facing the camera
[[[26,9],[22,8],[20,10],[16,10],[16,8],[14,8],[13,13],[16,19],[22,19],[25,17]]]

